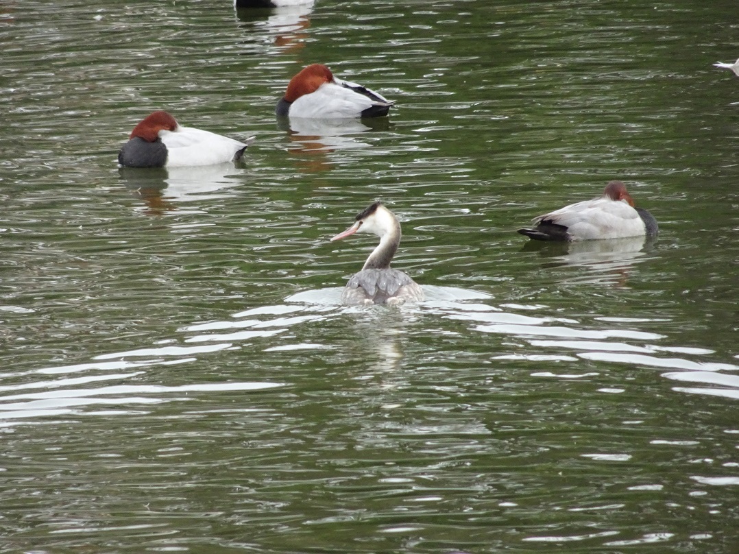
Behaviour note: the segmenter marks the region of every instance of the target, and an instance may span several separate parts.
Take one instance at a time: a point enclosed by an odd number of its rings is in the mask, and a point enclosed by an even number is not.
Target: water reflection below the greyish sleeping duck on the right
[[[524,244],[522,252],[536,251],[551,261],[542,267],[573,266],[585,269],[585,275],[568,281],[624,287],[630,270],[641,261],[656,242],[654,238],[633,236],[625,239],[577,242],[537,242]]]

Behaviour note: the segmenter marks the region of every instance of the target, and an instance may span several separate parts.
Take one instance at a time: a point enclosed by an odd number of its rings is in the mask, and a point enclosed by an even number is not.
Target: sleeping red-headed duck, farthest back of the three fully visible
[[[380,117],[387,115],[394,103],[357,83],[341,81],[327,66],[313,64],[290,80],[276,113],[324,119]]]

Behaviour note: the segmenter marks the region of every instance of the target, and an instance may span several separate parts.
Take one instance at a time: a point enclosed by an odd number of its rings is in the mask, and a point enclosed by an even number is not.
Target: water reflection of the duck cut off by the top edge
[[[297,52],[305,46],[313,1],[236,0],[234,9],[239,21],[250,27],[251,36],[264,35],[283,52]]]

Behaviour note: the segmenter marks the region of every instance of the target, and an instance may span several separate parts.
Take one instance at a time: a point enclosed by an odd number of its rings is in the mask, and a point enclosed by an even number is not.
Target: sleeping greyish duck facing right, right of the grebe
[[[635,208],[621,181],[611,181],[603,196],[577,202],[534,219],[533,229],[518,232],[539,241],[583,241],[656,236],[657,221],[651,213]]]

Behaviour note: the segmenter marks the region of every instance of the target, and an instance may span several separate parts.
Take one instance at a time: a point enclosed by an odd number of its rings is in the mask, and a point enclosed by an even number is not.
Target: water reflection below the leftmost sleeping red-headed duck
[[[145,213],[176,211],[178,202],[229,196],[227,189],[243,183],[233,163],[177,168],[118,168],[120,179],[146,202]]]

